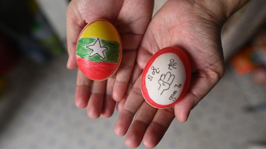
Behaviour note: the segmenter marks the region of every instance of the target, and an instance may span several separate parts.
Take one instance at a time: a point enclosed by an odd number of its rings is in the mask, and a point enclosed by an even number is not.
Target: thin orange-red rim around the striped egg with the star
[[[76,45],[76,57],[77,57],[77,46],[78,46],[78,43],[79,43],[79,40],[80,40],[80,37],[81,37],[82,33],[85,31],[85,29],[87,29],[87,27],[88,27],[90,24],[93,24],[93,23],[96,22],[96,21],[105,21],[105,22],[111,24],[112,27],[116,30],[116,33],[117,33],[117,35],[118,35],[118,37],[119,37],[119,43],[120,43],[120,55],[119,55],[119,61],[118,61],[118,63],[117,63],[116,68],[114,69],[114,71],[113,71],[110,75],[108,75],[108,76],[107,76],[106,78],[104,78],[104,79],[94,79],[94,78],[90,78],[90,77],[86,76],[86,77],[89,78],[90,80],[94,80],[94,81],[102,81],[102,80],[106,80],[106,79],[108,79],[109,77],[111,77],[111,76],[117,71],[117,69],[118,69],[118,67],[119,67],[119,65],[120,65],[120,63],[121,63],[123,48],[122,48],[121,37],[120,37],[120,34],[119,34],[119,32],[117,31],[116,27],[115,27],[110,21],[108,21],[108,20],[106,20],[106,19],[95,19],[95,20],[91,21],[89,24],[87,24],[87,25],[82,29],[82,31],[80,32],[79,38],[78,38],[78,40],[77,40],[77,45]],[[77,60],[77,58],[76,58],[76,60]],[[77,65],[78,65],[79,67],[83,67],[83,66],[80,66],[80,64],[79,64],[78,62],[77,62]]]

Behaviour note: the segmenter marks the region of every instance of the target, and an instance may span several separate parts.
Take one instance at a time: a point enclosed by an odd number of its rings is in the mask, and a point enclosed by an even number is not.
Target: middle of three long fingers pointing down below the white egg
[[[127,146],[137,148],[140,145],[146,129],[157,110],[157,108],[150,106],[147,102],[143,102],[126,135],[125,142]]]

